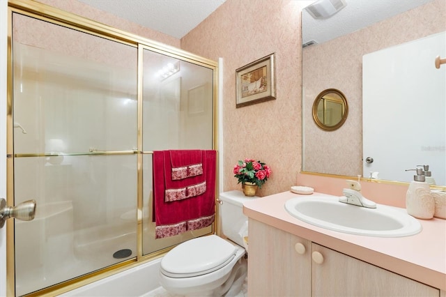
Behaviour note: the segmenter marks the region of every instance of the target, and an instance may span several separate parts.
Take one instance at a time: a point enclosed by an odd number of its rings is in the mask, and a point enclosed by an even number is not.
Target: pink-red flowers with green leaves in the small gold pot
[[[268,181],[271,169],[263,162],[254,159],[239,160],[234,166],[234,177],[238,178],[238,183],[253,183],[262,188],[263,183]]]

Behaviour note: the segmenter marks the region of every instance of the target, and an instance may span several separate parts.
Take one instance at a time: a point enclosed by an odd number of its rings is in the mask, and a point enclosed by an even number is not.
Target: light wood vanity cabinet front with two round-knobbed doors
[[[438,289],[252,219],[248,255],[248,296],[440,296]]]

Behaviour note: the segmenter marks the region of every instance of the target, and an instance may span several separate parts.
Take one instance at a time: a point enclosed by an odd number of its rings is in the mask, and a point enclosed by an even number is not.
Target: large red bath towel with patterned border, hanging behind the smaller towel
[[[155,238],[164,238],[185,231],[208,227],[215,219],[216,151],[201,151],[206,192],[178,201],[165,201],[166,160],[164,151],[153,152],[153,211]]]

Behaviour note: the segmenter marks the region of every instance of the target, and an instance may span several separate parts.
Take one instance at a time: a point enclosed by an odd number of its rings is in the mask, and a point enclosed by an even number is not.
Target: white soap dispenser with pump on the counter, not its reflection
[[[433,218],[435,213],[435,201],[431,195],[431,188],[426,183],[423,168],[407,169],[406,171],[415,170],[416,175],[410,182],[406,193],[406,210],[409,215],[415,218],[429,220]]]

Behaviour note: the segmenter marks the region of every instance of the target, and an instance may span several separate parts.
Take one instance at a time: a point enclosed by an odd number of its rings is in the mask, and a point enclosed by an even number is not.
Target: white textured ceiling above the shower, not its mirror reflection
[[[180,39],[226,0],[77,1]]]

